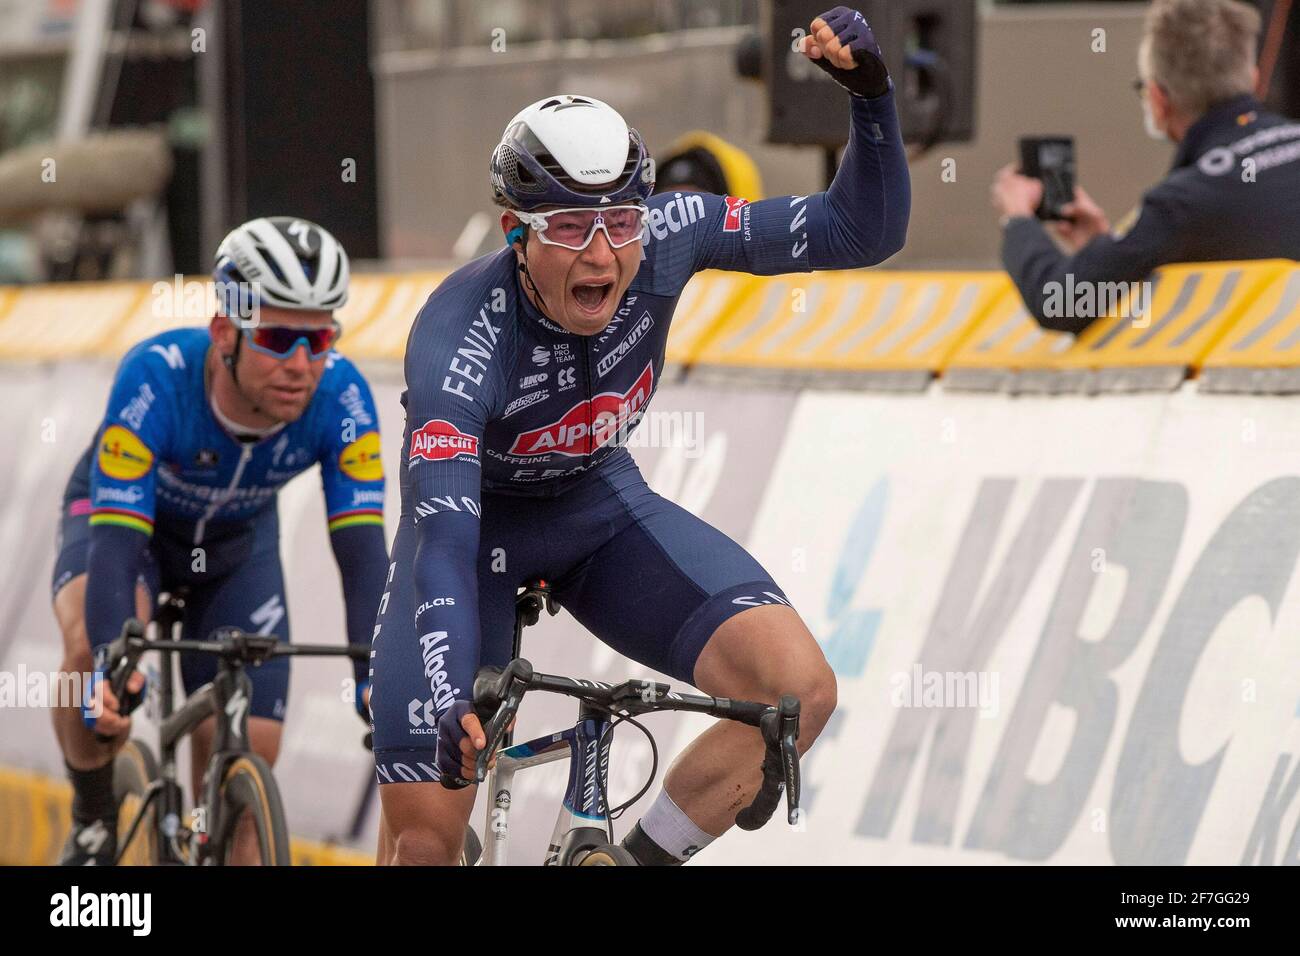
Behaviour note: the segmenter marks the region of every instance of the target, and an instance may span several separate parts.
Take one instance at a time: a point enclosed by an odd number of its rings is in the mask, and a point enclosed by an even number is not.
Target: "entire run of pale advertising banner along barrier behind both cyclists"
[[[13,436],[0,451],[5,672],[57,669],[58,506],[109,381],[107,367],[55,365],[0,384]],[[400,389],[374,392],[391,538]],[[632,441],[651,486],[751,550],[838,682],[798,825],[779,812],[698,864],[1300,862],[1290,399],[686,385],[663,388],[651,412],[664,418],[641,429],[660,437]],[[315,470],[285,489],[280,515],[292,637],[341,643]],[[650,675],[564,613],[530,630],[524,653],[545,672]],[[291,827],[369,851],[378,801],[348,669],[300,659],[292,672],[276,767]],[[567,700],[530,697],[516,739],[575,717]],[[707,726],[646,723],[658,779],[619,835]],[[62,775],[47,710],[0,710],[0,763]],[[646,741],[620,730],[612,801],[649,770]],[[566,777],[550,765],[516,779],[512,862],[541,861]]]

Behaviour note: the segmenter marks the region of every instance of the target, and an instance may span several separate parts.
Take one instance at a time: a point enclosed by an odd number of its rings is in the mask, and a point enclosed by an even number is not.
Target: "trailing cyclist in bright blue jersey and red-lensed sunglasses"
[[[334,351],[334,310],[347,300],[342,246],[306,220],[257,219],[217,250],[218,313],[208,328],[164,332],[131,349],[95,440],[68,481],[55,566],[62,670],[84,674],[130,617],[148,619],[160,589],[186,585],[185,636],[221,626],[289,640],[276,498],[321,466],[330,544],[352,644],[370,639],[387,550],[378,416],[361,373]],[[229,293],[220,295],[220,293]],[[274,762],[289,700],[289,658],[252,669],[248,737]],[[367,665],[355,667],[365,714]],[[181,656],[187,692],[211,680],[211,656]],[[127,684],[143,689],[143,675]],[[117,849],[113,756],[130,718],[100,683],[103,713],[55,710],[73,783],[62,862],[110,864]],[[98,740],[91,727],[109,743]],[[191,736],[195,792],[213,735]],[[233,861],[256,860],[256,834],[237,831]]]

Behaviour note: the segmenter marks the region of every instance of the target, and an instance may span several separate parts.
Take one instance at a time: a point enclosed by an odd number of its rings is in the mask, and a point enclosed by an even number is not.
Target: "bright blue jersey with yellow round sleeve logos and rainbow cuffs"
[[[202,544],[213,525],[274,509],[299,472],[321,466],[330,531],[384,524],[380,421],[356,367],[330,352],[303,416],[257,442],[233,438],[208,403],[207,329],[147,338],[124,358],[90,455],[91,525],[151,535],[161,523]]]

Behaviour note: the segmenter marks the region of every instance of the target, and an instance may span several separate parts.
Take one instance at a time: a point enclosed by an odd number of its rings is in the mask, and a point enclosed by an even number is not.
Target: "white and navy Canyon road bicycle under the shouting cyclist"
[[[488,747],[480,750],[474,780],[488,783],[488,806],[484,821],[485,840],[480,842],[472,827],[465,832],[462,864],[503,866],[510,834],[511,787],[515,774],[551,761],[569,761],[568,784],[559,817],[551,834],[543,865],[546,866],[634,866],[632,855],[614,839],[614,819],[634,804],[654,783],[659,752],[654,736],[634,718],[644,714],[679,711],[708,714],[758,727],[763,743],[763,783],[749,806],[736,816],[742,830],[757,830],[776,810],[785,793],[786,819],[798,821],[800,702],[792,695],[776,706],[728,697],[682,695],[668,684],[651,680],[624,680],[607,684],[598,680],[537,674],[519,656],[523,631],[536,624],[542,609],[558,611],[545,581],[529,583],[515,605],[515,644],[512,661],[504,669],[482,667],[474,678],[474,711],[484,722]],[[511,741],[511,727],[524,695],[559,693],[578,701],[577,721],[554,734],[521,744]],[[610,749],[614,728],[632,723],[650,740],[651,769],[645,786],[620,806],[608,806]],[[498,750],[498,747],[500,748]],[[489,767],[493,754],[494,766]]]

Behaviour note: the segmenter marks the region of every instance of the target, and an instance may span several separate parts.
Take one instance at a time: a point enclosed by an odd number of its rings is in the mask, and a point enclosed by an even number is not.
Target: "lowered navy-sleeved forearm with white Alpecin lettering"
[[[480,653],[477,555],[473,515],[438,514],[416,524],[415,633],[439,713],[473,695]]]

